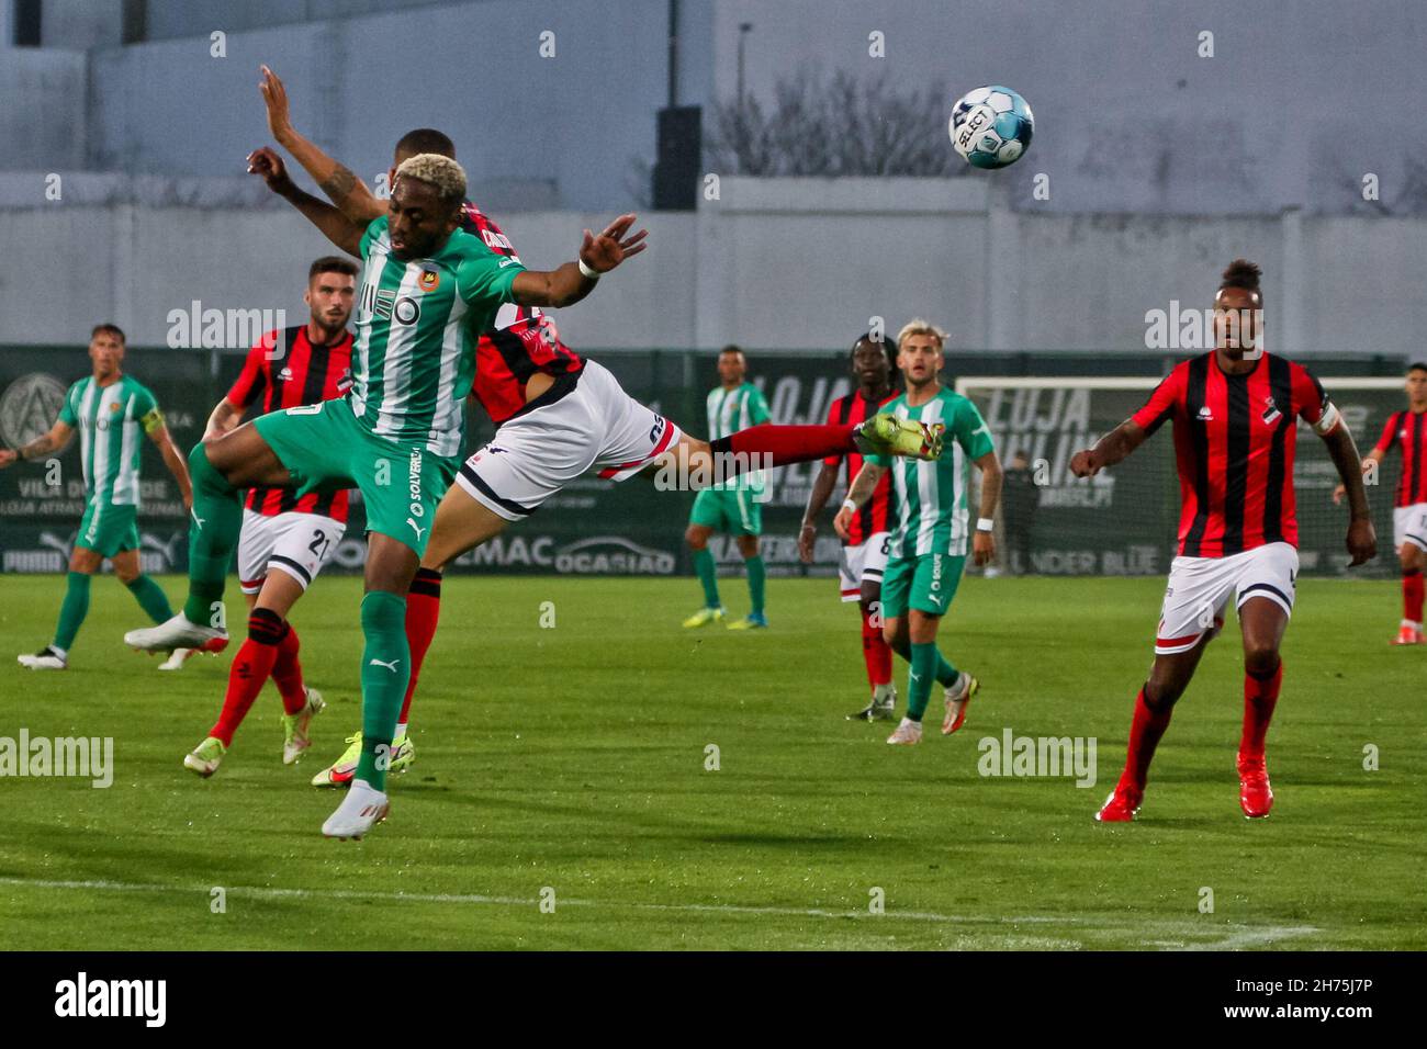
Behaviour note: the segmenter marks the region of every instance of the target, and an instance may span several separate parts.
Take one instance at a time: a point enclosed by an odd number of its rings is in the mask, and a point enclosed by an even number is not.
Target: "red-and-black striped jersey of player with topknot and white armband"
[[[1297,422],[1336,417],[1307,368],[1264,354],[1227,375],[1217,351],[1176,365],[1133,420],[1146,434],[1174,422],[1179,552],[1229,557],[1266,542],[1299,544],[1293,492]]]

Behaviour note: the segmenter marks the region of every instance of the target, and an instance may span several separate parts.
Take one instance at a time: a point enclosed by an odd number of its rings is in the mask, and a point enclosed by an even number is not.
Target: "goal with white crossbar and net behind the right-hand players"
[[[1366,454],[1388,415],[1404,405],[1400,378],[1320,377]],[[1007,485],[1000,518],[1000,567],[1045,575],[1164,575],[1174,557],[1179,480],[1172,424],[1166,424],[1124,462],[1093,478],[1070,474],[1070,457],[1092,447],[1129,418],[1157,385],[1157,378],[999,378],[968,377],[956,390],[980,408],[996,438],[1002,465],[1016,452],[1029,460],[1035,490]],[[1396,575],[1393,558],[1393,487],[1401,462],[1391,455],[1368,478],[1368,502],[1377,527],[1377,559],[1357,574]],[[1347,571],[1343,539],[1347,504],[1333,504],[1337,471],[1313,431],[1299,422],[1299,559],[1310,575]],[[972,485],[972,498],[979,485]],[[975,510],[972,511],[975,515]],[[1017,520],[1019,518],[1019,520]]]

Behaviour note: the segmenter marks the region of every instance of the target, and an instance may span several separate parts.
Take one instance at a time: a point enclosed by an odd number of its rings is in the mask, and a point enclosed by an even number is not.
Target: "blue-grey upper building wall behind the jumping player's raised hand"
[[[539,54],[555,34],[555,57]],[[665,88],[664,0],[572,6],[491,0],[347,21],[227,31],[93,53],[90,164],[227,176],[268,141],[260,63],[287,81],[294,123],[372,178],[402,133],[440,127],[472,186],[554,184],[577,210],[631,198],[652,161]]]

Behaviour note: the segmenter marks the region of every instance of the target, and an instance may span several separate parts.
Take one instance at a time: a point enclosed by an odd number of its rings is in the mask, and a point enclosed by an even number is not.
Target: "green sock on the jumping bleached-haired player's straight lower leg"
[[[367,594],[361,601],[361,632],[367,647],[361,654],[361,758],[354,779],[385,791],[391,739],[411,681],[407,599],[384,589]]]

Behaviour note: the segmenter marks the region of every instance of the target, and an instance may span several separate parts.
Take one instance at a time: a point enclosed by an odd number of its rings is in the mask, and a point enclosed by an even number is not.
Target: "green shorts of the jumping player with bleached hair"
[[[357,488],[367,504],[367,531],[427,552],[437,504],[451,487],[459,458],[427,451],[365,430],[345,400],[273,411],[254,420],[258,434],[293,475],[300,495]]]

